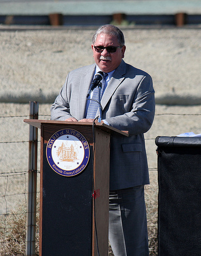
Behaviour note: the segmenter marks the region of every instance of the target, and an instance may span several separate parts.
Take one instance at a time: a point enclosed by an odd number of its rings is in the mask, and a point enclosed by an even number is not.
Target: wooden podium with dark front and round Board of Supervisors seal
[[[41,129],[39,255],[96,256],[97,251],[101,256],[108,255],[110,134],[128,136],[128,133],[104,123],[95,123],[93,129],[88,122],[36,119],[24,122]],[[89,147],[89,159],[83,160],[73,172],[63,172],[58,167],[60,161],[51,165],[50,161],[55,160],[49,160],[49,148],[54,152],[52,147],[58,147],[54,146],[55,141],[61,144],[58,148],[64,147],[58,140],[64,136],[59,137],[62,133],[66,137],[78,134],[80,147]],[[72,145],[69,154],[72,155]]]

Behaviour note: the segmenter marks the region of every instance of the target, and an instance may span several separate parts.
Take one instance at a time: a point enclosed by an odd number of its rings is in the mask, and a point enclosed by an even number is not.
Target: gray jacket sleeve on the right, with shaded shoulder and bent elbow
[[[132,87],[132,81],[129,87]],[[147,132],[154,120],[154,93],[152,78],[148,74],[142,76],[135,89],[130,109],[113,117],[107,118],[106,115],[106,122],[119,130],[129,131],[131,136]]]

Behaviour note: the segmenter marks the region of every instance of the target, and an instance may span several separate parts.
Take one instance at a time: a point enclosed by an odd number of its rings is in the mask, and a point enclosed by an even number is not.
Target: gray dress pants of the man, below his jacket
[[[109,241],[115,256],[148,256],[144,186],[110,191]]]

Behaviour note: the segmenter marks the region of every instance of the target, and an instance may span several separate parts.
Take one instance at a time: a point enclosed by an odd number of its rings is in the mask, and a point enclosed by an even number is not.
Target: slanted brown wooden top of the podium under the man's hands
[[[86,126],[86,127],[91,127],[93,125],[92,122],[67,122],[67,121],[56,121],[56,120],[39,120],[39,119],[24,119],[24,122],[38,128],[41,129],[41,125],[68,125],[68,126],[74,126],[74,125],[82,125],[82,126]],[[99,122],[95,122],[94,127],[101,129],[105,132],[108,133],[117,133],[120,135],[124,135],[124,136],[129,136],[129,132],[128,131],[120,131],[110,125],[107,125],[105,123],[99,123]]]

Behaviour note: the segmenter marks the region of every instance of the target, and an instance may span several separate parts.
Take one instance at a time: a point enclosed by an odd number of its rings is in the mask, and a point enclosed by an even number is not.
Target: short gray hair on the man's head
[[[122,31],[114,25],[104,25],[99,27],[92,37],[92,44],[95,44],[97,35],[104,33],[112,36],[116,36],[120,46],[124,46],[124,36]]]

